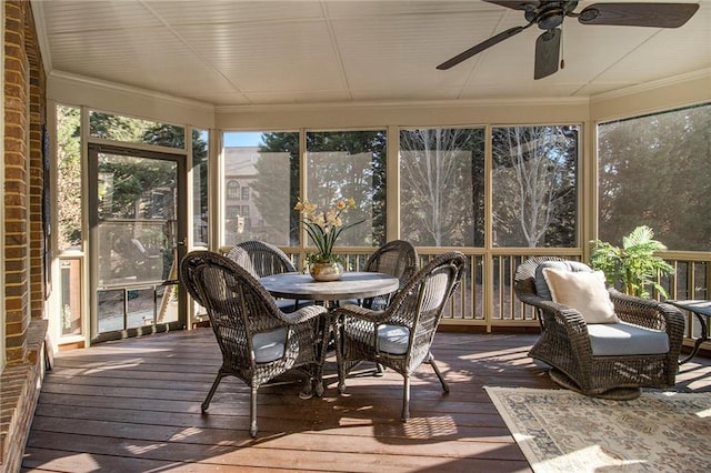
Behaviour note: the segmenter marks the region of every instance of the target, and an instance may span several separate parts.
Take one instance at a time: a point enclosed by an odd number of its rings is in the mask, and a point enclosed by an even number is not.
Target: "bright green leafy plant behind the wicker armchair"
[[[621,284],[630,295],[649,298],[649,288],[667,296],[667,291],[657,282],[658,275],[670,274],[674,270],[660,256],[658,251],[667,250],[654,240],[654,232],[647,225],[640,225],[622,238],[622,248],[609,242],[593,240],[590,264],[604,272],[608,284]]]

